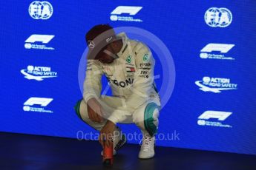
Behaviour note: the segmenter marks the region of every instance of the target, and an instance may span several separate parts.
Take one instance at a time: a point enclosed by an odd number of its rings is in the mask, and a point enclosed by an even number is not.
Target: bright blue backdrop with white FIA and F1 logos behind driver
[[[0,5],[1,132],[83,138],[95,132],[73,106],[82,98],[78,69],[85,33],[109,23],[148,30],[173,57],[175,86],[160,112],[159,129],[169,140],[157,140],[158,146],[256,154],[256,1],[10,0]],[[154,54],[162,86],[161,56]],[[140,132],[134,125],[120,126],[125,133]]]

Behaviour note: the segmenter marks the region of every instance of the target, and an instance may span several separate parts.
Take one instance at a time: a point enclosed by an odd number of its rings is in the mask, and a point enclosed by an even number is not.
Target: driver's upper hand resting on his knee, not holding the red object
[[[90,120],[101,123],[102,118],[102,106],[96,100],[96,98],[89,99],[87,103],[88,116]]]

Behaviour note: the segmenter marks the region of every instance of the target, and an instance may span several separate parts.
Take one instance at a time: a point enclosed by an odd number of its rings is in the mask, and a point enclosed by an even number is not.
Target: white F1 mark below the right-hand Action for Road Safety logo
[[[198,117],[198,119],[205,119],[208,120],[210,118],[217,118],[218,120],[226,120],[230,115],[232,115],[232,112],[220,112],[220,111],[211,111],[208,110],[206,112],[203,112],[202,115]]]

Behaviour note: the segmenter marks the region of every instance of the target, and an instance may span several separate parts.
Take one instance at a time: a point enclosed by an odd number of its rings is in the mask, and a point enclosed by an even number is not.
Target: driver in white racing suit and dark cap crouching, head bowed
[[[108,24],[99,24],[86,34],[89,47],[82,100],[76,114],[100,132],[99,143],[113,143],[114,154],[126,142],[116,123],[135,123],[142,131],[139,158],[154,157],[160,97],[154,84],[151,50],[125,33],[116,35]],[[101,95],[102,75],[113,96]]]

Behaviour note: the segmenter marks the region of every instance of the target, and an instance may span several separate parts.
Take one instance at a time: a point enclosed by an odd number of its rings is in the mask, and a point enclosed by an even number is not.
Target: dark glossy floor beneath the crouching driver
[[[97,141],[0,133],[0,169],[256,169],[256,156],[157,147],[154,159],[137,158],[126,144],[111,168],[102,165]]]

